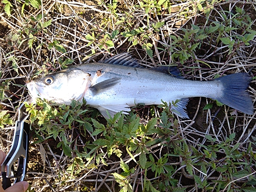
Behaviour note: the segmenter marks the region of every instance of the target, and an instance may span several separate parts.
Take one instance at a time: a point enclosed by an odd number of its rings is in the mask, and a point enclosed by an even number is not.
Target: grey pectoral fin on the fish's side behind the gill
[[[97,93],[100,93],[101,91],[104,91],[106,89],[110,89],[111,87],[115,86],[116,83],[120,82],[121,78],[111,78],[106,79],[104,81],[101,81],[94,86],[90,87],[89,89],[93,92],[94,95]]]

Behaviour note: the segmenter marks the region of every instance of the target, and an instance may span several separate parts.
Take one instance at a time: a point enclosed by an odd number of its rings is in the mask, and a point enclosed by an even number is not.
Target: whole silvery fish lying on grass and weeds
[[[105,118],[127,114],[132,106],[172,103],[172,111],[189,119],[186,104],[191,97],[218,100],[248,115],[254,113],[248,89],[251,77],[234,73],[208,81],[185,79],[177,67],[142,67],[129,53],[117,54],[101,62],[84,63],[31,80],[27,88],[33,100],[54,104],[82,102],[99,110]],[[109,116],[110,115],[110,116]]]

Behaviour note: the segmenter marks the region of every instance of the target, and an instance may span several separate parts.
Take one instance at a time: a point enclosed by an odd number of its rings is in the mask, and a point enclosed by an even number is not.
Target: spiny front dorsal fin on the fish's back
[[[141,68],[137,60],[133,58],[129,53],[121,53],[99,62],[106,63],[106,64],[113,64],[113,65],[120,65],[120,66],[122,65],[122,66]]]

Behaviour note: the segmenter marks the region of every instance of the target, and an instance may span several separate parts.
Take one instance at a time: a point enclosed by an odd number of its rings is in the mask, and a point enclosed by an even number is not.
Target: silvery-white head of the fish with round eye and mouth
[[[66,69],[27,83],[33,102],[36,98],[56,104],[70,104],[72,100],[82,101],[91,84],[91,74],[80,69]]]

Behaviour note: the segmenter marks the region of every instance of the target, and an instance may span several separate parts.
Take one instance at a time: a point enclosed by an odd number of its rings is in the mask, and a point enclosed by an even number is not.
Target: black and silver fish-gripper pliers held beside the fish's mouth
[[[24,114],[24,102],[18,109],[18,120],[15,123],[15,132],[12,146],[1,166],[3,188],[11,186],[10,178],[14,183],[23,181],[26,175],[29,152],[29,124],[25,122],[29,115]]]

